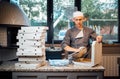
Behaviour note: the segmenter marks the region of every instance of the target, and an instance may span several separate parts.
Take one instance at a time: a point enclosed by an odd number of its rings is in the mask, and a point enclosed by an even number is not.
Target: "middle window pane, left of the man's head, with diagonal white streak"
[[[77,9],[74,7],[74,0],[53,0],[54,40],[63,40],[75,10]]]

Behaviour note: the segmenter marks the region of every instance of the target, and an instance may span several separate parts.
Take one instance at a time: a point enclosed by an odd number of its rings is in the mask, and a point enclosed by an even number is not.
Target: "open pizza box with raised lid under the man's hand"
[[[73,61],[75,66],[89,66],[89,67],[100,65],[101,62],[102,62],[102,43],[98,43],[96,41],[93,41],[92,43],[91,61],[88,62]]]

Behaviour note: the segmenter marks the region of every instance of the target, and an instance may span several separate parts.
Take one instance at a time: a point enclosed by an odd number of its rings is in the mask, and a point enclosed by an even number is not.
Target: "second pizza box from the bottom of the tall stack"
[[[18,61],[43,61],[46,60],[46,56],[20,56]]]

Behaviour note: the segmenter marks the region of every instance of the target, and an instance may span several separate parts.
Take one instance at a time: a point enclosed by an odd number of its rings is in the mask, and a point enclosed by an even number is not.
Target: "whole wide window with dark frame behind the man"
[[[70,19],[75,10],[89,16],[84,25],[103,35],[103,42],[120,42],[119,0],[19,0],[19,5],[31,26],[49,27],[47,43],[61,43],[66,30],[72,27]]]

